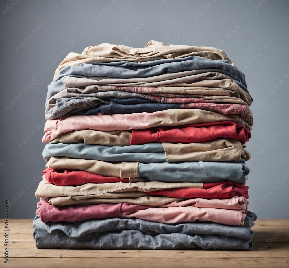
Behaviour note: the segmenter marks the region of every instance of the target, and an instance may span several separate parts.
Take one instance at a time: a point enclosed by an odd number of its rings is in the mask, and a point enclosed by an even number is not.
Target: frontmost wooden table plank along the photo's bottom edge
[[[1,265],[1,264],[0,264]],[[288,258],[11,258],[10,267],[19,268],[51,268],[51,267],[70,267],[70,268],[239,268],[239,267],[262,267],[262,268],[288,268]]]

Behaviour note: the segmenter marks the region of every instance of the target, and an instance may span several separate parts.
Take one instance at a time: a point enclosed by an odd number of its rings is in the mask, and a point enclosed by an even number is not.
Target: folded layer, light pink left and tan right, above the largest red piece
[[[205,110],[170,109],[154,113],[125,115],[67,115],[58,120],[49,119],[44,126],[42,142],[50,142],[58,135],[72,130],[94,129],[101,131],[146,129],[157,126],[181,126],[203,122],[232,121],[251,130],[239,115],[222,115]]]

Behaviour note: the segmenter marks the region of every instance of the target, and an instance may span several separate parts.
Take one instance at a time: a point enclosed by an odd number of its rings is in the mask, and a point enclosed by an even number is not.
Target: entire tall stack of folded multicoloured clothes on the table
[[[38,248],[252,248],[245,77],[213,47],[104,43],[48,86]]]

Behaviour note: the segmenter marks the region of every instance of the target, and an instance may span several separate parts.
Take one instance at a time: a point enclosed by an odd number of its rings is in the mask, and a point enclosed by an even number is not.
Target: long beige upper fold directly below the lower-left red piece
[[[151,192],[176,188],[201,188],[203,183],[181,182],[170,183],[160,181],[140,181],[133,183],[86,183],[80,186],[56,186],[43,179],[40,181],[35,196],[42,199],[59,196],[71,196],[73,199],[101,197],[102,194],[121,192]]]

